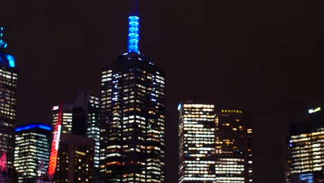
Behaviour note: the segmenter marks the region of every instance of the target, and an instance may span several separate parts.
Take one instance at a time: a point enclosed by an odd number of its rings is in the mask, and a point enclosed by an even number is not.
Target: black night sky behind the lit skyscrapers
[[[177,182],[177,103],[203,96],[253,115],[255,182],[283,182],[282,135],[324,103],[321,0],[139,2],[141,52],[167,69],[167,179]],[[129,2],[1,0],[19,69],[17,123],[51,120],[127,49]]]

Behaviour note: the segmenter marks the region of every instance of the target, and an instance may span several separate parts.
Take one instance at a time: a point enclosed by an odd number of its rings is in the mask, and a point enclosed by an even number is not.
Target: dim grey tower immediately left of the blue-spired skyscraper
[[[72,133],[94,139],[95,182],[99,180],[100,104],[99,98],[88,90],[79,90],[73,103]]]

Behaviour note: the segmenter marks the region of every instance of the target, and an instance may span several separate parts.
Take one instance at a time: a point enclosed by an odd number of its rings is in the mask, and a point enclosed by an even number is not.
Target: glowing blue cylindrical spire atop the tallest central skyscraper
[[[139,40],[139,17],[131,16],[128,18],[129,29],[128,29],[128,53],[136,52],[140,53],[138,50],[138,40]]]

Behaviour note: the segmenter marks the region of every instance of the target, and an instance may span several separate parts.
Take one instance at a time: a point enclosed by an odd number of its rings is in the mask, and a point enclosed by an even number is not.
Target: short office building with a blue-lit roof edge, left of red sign
[[[48,167],[51,145],[51,126],[44,123],[29,123],[16,128],[15,168],[17,182],[35,183],[42,172],[41,164]]]

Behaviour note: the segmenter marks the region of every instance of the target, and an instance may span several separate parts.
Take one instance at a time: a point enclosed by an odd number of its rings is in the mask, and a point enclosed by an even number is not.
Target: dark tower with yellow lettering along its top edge
[[[216,182],[253,182],[252,128],[243,110],[217,112],[215,139]]]

